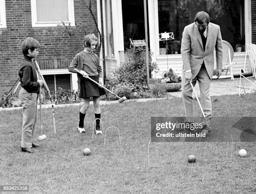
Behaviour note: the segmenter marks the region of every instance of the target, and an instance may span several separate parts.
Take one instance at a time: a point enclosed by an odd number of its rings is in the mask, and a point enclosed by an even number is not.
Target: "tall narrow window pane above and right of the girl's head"
[[[111,0],[106,0],[105,3],[105,35],[106,35],[106,53],[108,56],[114,56],[114,39],[113,39],[113,21],[112,21],[112,6]]]

